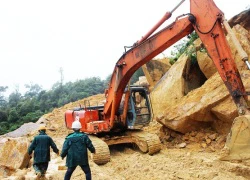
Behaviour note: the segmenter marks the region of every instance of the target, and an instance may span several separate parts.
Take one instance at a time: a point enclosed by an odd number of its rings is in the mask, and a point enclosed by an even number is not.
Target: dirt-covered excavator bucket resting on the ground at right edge
[[[250,115],[235,118],[220,160],[250,159]]]

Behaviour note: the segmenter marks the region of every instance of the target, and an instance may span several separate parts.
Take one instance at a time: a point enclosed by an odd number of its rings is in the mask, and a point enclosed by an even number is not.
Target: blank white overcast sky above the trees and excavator
[[[214,0],[227,19],[249,0]],[[87,77],[105,79],[117,60],[180,0],[1,0],[0,86],[37,83],[50,89]],[[175,17],[189,12],[189,0]]]

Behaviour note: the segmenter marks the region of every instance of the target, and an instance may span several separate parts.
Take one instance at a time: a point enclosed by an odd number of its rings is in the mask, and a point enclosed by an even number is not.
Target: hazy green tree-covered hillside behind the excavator
[[[142,70],[137,71],[131,78],[132,82],[137,81],[141,75],[143,75]],[[53,84],[50,90],[43,90],[38,84],[26,84],[27,91],[24,95],[16,88],[8,98],[2,95],[7,87],[0,86],[0,100],[2,100],[0,101],[0,134],[13,131],[24,123],[36,122],[43,114],[69,102],[104,93],[110,77],[111,75],[105,80],[91,77],[66,84],[60,80]]]

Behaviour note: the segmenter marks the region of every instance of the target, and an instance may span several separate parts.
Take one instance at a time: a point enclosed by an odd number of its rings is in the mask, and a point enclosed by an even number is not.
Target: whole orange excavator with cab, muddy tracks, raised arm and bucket
[[[174,10],[183,2],[184,0]],[[65,122],[68,128],[71,128],[73,121],[80,121],[81,130],[90,134],[96,147],[93,160],[97,164],[109,161],[108,146],[113,144],[135,143],[140,150],[149,154],[160,151],[161,144],[156,135],[137,130],[149,124],[152,111],[148,92],[144,87],[129,86],[129,80],[136,70],[193,31],[204,44],[238,108],[239,117],[235,119],[226,143],[228,157],[236,158],[239,154],[242,155],[241,152],[250,151],[248,93],[234,62],[225,32],[232,36],[242,60],[250,68],[246,53],[227,24],[224,13],[213,0],[190,0],[190,13],[178,16],[172,24],[155,32],[171,17],[174,10],[167,12],[117,61],[109,87],[105,91],[104,105],[66,111]]]

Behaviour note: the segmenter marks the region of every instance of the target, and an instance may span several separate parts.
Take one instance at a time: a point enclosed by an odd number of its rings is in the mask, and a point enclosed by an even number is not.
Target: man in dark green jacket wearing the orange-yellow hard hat
[[[59,155],[59,150],[52,140],[45,132],[45,126],[39,127],[39,135],[35,136],[34,140],[29,146],[28,154],[31,156],[34,151],[33,167],[37,174],[37,179],[44,177],[48,169],[50,161],[50,147]]]

